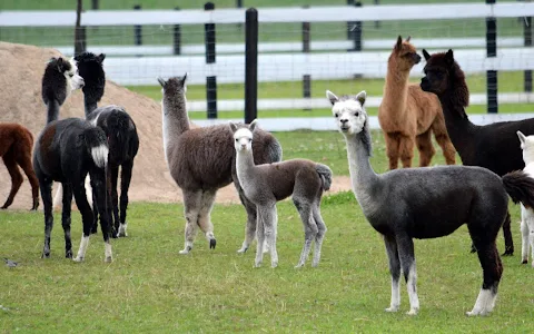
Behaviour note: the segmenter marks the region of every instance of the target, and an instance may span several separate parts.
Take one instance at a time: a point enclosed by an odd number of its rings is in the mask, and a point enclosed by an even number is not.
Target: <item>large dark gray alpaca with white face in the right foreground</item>
[[[392,275],[392,301],[386,311],[398,311],[402,272],[409,296],[408,314],[418,312],[413,238],[446,236],[467,224],[484,276],[475,306],[467,315],[492,312],[503,272],[495,239],[506,218],[506,193],[514,202],[533,206],[534,179],[523,171],[501,178],[473,166],[406,168],[377,175],[369,163],[372,139],[364,108],[365,91],[342,98],[327,91],[327,97],[347,143],[353,191],[365,217],[386,244]]]

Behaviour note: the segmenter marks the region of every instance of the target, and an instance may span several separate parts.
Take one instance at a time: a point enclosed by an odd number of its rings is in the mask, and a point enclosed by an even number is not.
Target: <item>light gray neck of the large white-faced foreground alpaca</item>
[[[366,145],[363,141],[364,136],[369,136],[368,129],[357,135],[345,136],[353,191],[362,208],[366,205],[367,199],[372,197],[373,188],[379,181],[378,175],[370,166],[370,144]],[[370,137],[368,139],[370,140]]]

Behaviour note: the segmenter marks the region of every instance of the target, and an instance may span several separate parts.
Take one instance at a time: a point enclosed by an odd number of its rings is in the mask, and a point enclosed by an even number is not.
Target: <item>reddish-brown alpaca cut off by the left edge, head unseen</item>
[[[23,181],[17,165],[24,170],[31,185],[31,197],[33,199],[31,209],[37,210],[39,206],[39,181],[31,165],[32,147],[33,135],[30,130],[19,124],[0,122],[0,157],[2,157],[3,164],[11,176],[11,190],[1,207],[2,209],[7,209],[13,203],[14,196]]]

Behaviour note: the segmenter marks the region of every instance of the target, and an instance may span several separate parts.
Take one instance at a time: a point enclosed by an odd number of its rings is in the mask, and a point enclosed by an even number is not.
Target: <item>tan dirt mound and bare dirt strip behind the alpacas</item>
[[[0,42],[0,121],[19,122],[37,139],[46,124],[46,107],[41,99],[41,78],[46,62],[61,56],[55,49]],[[155,78],[156,82],[156,78]],[[135,160],[130,202],[181,202],[181,191],[170,177],[165,163],[161,139],[161,107],[150,98],[107,81],[99,106],[120,105],[137,125],[140,147]],[[61,108],[61,118],[83,117],[83,94],[75,91]],[[9,194],[11,180],[0,164],[0,202]],[[346,190],[346,177],[334,179],[333,191]],[[28,179],[20,188],[10,208],[30,208],[31,191]],[[217,203],[238,203],[237,191],[230,185],[217,194]],[[42,209],[42,203],[40,205]]]

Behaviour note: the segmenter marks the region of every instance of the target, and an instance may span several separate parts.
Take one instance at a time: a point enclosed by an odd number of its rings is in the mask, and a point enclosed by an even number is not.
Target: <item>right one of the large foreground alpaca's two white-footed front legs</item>
[[[416,315],[417,312],[419,312],[419,297],[417,296],[417,271],[415,266],[414,240],[407,235],[397,236],[397,249],[409,297],[409,312],[407,314]]]

